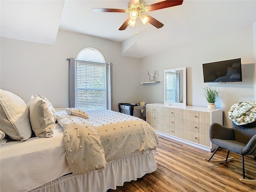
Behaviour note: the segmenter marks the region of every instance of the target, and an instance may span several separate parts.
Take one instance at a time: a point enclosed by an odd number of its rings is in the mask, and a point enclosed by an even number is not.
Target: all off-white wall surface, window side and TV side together
[[[255,28],[255,27],[254,27]],[[254,29],[255,30],[255,29]],[[220,91],[217,108],[224,110],[224,125],[230,126],[227,112],[232,104],[254,100],[255,78],[253,26],[233,30],[215,38],[186,44],[142,59],[120,56],[120,43],[84,34],[59,30],[54,46],[0,39],[0,88],[12,91],[28,102],[41,93],[56,108],[68,107],[68,62],[86,47],[102,52],[113,66],[113,110],[120,102],[164,102],[164,70],[187,67],[187,105],[207,106],[204,86]],[[203,83],[202,64],[242,58],[243,82]],[[156,84],[148,81],[148,72],[156,72]]]

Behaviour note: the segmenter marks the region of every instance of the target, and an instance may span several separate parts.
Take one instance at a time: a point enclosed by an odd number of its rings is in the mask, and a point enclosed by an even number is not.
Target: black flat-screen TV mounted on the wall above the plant
[[[204,82],[242,81],[241,58],[203,64]]]

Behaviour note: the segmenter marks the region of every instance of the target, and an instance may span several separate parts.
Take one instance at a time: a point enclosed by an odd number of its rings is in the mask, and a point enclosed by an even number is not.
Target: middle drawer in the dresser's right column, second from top
[[[209,136],[210,124],[184,120],[183,129]]]

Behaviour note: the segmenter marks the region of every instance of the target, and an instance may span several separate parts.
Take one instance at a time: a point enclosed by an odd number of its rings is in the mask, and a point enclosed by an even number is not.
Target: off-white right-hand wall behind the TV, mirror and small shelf
[[[204,83],[202,64],[220,60],[241,58],[242,82]],[[164,102],[164,70],[187,67],[187,105],[207,107],[203,87],[214,86],[220,92],[216,108],[224,110],[224,125],[230,126],[228,111],[232,104],[254,100],[254,54],[252,26],[233,30],[215,38],[166,50],[160,54],[142,58],[142,79],[147,79],[147,70],[157,70],[159,84],[141,87],[141,97],[146,103]]]

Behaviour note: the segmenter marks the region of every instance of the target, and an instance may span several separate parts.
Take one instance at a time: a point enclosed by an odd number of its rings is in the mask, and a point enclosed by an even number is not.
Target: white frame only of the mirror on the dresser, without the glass
[[[166,102],[166,72],[179,71],[179,70],[183,71],[183,102],[182,103]],[[164,105],[169,105],[169,106],[171,106],[171,105],[186,106],[187,105],[187,71],[186,71],[186,67],[164,70]]]

